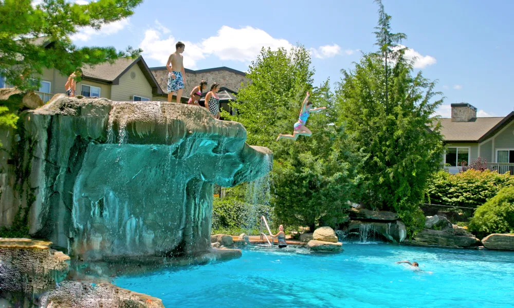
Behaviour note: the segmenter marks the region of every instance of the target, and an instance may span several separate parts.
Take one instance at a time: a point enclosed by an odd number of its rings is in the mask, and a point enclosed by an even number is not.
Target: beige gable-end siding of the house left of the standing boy
[[[136,78],[131,78],[131,73],[136,74]],[[120,77],[119,85],[113,85],[111,89],[111,100],[113,101],[132,101],[131,95],[138,95],[152,100],[152,87],[144,78],[143,72],[137,65],[131,67]]]

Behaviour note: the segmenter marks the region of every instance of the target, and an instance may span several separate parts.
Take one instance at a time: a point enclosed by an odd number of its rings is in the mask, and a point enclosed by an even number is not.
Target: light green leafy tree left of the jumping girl
[[[237,114],[224,113],[223,117],[245,126],[249,144],[269,146],[279,134],[278,123],[292,120],[289,101],[313,87],[314,69],[310,63],[310,53],[303,46],[290,51],[263,48],[248,69],[246,76],[251,84],[241,88],[237,101],[231,103]],[[302,100],[303,97],[296,101],[294,112],[300,110]]]

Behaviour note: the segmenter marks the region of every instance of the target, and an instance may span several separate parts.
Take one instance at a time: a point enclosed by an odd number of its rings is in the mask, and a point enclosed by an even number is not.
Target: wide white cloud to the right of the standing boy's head
[[[262,47],[276,50],[290,49],[292,45],[283,38],[274,38],[264,30],[253,27],[234,29],[223,26],[216,36],[201,42],[205,53],[214,54],[221,60],[248,62],[255,59]]]

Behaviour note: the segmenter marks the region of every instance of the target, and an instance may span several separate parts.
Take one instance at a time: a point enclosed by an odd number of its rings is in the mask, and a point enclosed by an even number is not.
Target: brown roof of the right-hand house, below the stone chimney
[[[469,122],[452,122],[451,118],[438,120],[446,142],[482,142],[514,120],[514,111],[504,118],[474,118]]]

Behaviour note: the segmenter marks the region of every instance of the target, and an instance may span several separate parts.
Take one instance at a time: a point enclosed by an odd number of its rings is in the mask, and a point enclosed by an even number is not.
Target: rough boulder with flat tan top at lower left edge
[[[70,258],[50,249],[51,242],[0,238],[0,290],[40,294],[63,281]]]

